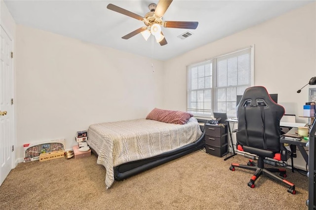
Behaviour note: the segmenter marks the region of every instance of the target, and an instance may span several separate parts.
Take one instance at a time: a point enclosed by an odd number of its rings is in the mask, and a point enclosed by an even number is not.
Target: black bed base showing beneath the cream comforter
[[[204,126],[200,126],[200,127],[202,130],[202,135],[199,137],[198,140],[196,140],[193,143],[190,143],[188,145],[185,145],[173,151],[162,153],[155,157],[123,163],[119,166],[114,167],[115,180],[122,180],[130,176],[137,175],[141,172],[152,169],[154,167],[157,167],[161,164],[167,163],[171,160],[187,155],[196,150],[202,149],[205,145],[205,140],[204,140],[205,130],[204,130]],[[96,156],[98,156],[98,154],[92,148],[91,148],[91,151]]]

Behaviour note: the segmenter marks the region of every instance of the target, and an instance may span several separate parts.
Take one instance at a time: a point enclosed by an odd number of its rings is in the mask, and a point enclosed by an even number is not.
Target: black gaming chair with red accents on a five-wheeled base
[[[276,104],[269,96],[265,87],[254,86],[245,90],[237,106],[237,149],[258,156],[258,163],[249,160],[247,165],[232,163],[230,170],[243,168],[255,171],[248,182],[248,186],[255,187],[255,181],[260,175],[267,175],[274,180],[288,186],[288,192],[295,194],[295,185],[283,178],[285,169],[264,168],[266,157],[278,161],[287,160],[287,150],[280,143],[280,119],[284,115],[284,108]],[[281,150],[281,148],[283,150]]]

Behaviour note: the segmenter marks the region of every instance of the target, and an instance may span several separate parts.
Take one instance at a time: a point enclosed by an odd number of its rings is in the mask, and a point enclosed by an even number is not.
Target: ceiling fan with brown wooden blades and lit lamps
[[[178,28],[178,29],[196,29],[198,22],[188,22],[188,21],[163,21],[162,16],[168,9],[172,0],[159,0],[158,4],[151,3],[148,8],[150,12],[145,14],[145,16],[141,16],[135,14],[131,11],[118,7],[112,3],[108,4],[107,8],[113,10],[115,12],[121,13],[123,15],[135,18],[137,20],[143,21],[145,23],[145,27],[141,27],[136,29],[135,31],[124,35],[123,39],[129,39],[134,35],[141,33],[143,37],[147,40],[149,36],[152,34],[156,37],[156,41],[159,42],[161,46],[167,44],[167,41],[161,32],[161,27],[164,28]]]

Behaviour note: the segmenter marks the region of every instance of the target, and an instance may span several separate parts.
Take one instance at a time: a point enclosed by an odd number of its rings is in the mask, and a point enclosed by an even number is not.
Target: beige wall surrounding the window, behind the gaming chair
[[[286,112],[300,116],[316,76],[316,3],[227,36],[165,62],[164,107],[186,109],[186,67],[239,48],[255,45],[255,85],[278,94]],[[297,121],[306,121],[297,118]]]

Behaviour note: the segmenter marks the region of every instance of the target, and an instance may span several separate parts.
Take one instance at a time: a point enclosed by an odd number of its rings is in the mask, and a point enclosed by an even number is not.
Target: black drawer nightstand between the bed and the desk
[[[227,124],[205,124],[205,149],[208,154],[223,157],[228,151]]]

